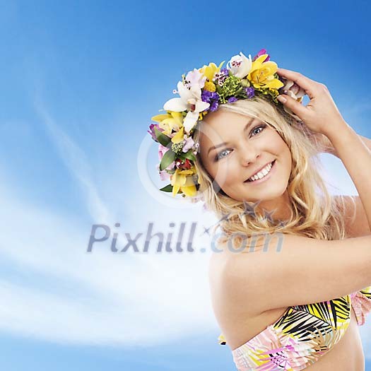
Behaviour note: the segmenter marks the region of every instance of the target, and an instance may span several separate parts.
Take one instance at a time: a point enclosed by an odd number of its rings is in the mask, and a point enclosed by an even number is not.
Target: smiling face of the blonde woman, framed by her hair
[[[260,119],[211,112],[202,121],[199,143],[204,167],[232,199],[269,201],[285,194],[291,172],[290,149],[277,131]],[[266,177],[247,181],[273,161]]]

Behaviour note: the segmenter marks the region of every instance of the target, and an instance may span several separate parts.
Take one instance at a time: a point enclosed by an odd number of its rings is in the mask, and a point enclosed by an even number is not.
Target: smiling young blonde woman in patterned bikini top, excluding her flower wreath
[[[209,271],[220,344],[238,370],[364,370],[371,152],[326,86],[287,69],[278,75],[310,97],[305,107],[285,95],[302,124],[255,98],[220,105],[194,135],[206,205],[229,215]],[[353,179],[355,202],[326,191],[314,160],[324,139]]]

